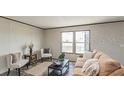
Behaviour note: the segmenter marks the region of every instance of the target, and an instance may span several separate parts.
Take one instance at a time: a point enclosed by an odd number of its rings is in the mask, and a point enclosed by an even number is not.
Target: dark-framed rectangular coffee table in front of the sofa
[[[69,59],[64,59],[62,65],[57,66],[55,63],[48,66],[48,76],[63,76],[69,71]],[[50,72],[50,70],[52,70]]]

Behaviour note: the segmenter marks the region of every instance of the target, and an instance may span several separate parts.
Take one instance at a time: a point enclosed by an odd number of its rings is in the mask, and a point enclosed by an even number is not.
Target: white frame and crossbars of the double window
[[[88,51],[91,51],[91,31],[90,30],[76,30],[76,31],[62,31],[60,33],[60,52],[62,53],[62,33],[66,33],[66,32],[73,32],[73,44],[72,44],[72,53],[71,52],[64,52],[64,53],[67,53],[67,54],[83,54],[83,53],[76,53],[76,32],[83,32],[83,31],[88,31],[89,32],[89,50]],[[66,43],[66,42],[65,42]],[[82,43],[82,42],[79,42],[79,43]],[[83,43],[86,43],[86,42],[83,42]]]

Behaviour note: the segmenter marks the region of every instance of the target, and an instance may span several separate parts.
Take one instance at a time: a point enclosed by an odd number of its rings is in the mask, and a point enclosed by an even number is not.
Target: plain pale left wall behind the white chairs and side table
[[[43,47],[41,29],[0,18],[0,55],[22,52],[25,43],[34,44],[34,50]],[[0,73],[7,71],[6,62],[0,61]]]

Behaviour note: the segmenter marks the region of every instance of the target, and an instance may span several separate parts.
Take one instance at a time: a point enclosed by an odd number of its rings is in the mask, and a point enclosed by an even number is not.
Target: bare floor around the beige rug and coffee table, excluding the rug
[[[32,64],[29,66],[28,69],[40,64],[41,62],[38,62],[37,64]],[[65,74],[65,76],[72,76],[73,75],[73,70],[74,70],[74,63],[75,62],[70,62],[69,64],[69,71]],[[28,74],[26,74],[24,71],[27,70],[27,67],[23,67],[21,68],[21,76],[30,76]],[[0,76],[7,76],[7,72],[6,73],[3,73],[3,74],[0,74]],[[18,76],[18,72],[17,70],[12,70],[10,72],[10,75],[9,76]]]

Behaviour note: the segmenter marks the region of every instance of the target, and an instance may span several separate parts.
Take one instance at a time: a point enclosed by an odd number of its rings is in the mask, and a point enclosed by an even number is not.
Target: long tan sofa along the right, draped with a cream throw
[[[98,59],[100,71],[97,76],[123,76],[124,67],[116,60],[112,59],[108,55],[94,50],[90,53],[91,58]],[[75,64],[74,75],[75,76],[84,76],[82,72],[82,67],[87,59],[83,56],[79,57]]]

